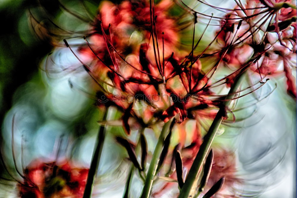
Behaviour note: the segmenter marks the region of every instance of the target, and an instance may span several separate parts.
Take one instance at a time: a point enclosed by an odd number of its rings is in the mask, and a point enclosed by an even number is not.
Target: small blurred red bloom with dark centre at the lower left
[[[71,161],[45,162],[37,159],[24,170],[18,183],[20,197],[82,197],[88,169],[75,167]]]

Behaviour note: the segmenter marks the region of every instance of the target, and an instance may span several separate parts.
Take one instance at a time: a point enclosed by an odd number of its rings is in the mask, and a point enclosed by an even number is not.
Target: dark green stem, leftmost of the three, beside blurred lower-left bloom
[[[104,112],[103,120],[106,120],[107,117],[107,110]],[[91,166],[89,169],[88,173],[88,178],[87,178],[87,183],[85,187],[85,191],[83,192],[83,198],[90,198],[92,197],[92,191],[93,191],[93,183],[97,175],[97,170],[100,162],[100,157],[102,154],[102,148],[103,148],[103,143],[105,140],[106,132],[105,132],[105,126],[101,125],[99,128],[98,136],[97,136],[97,141],[95,144],[95,150],[93,153],[92,161],[91,161]]]

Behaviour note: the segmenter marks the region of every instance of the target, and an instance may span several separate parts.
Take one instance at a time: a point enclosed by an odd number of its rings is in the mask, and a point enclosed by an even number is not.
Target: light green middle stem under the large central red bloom
[[[157,145],[155,147],[154,154],[153,154],[152,159],[151,159],[151,163],[149,164],[149,170],[148,170],[148,173],[146,175],[146,180],[144,182],[144,186],[143,186],[143,189],[142,189],[142,194],[140,196],[141,198],[149,198],[149,194],[150,194],[150,191],[151,191],[151,186],[153,184],[153,180],[154,180],[154,177],[155,177],[155,174],[156,174],[157,165],[158,165],[158,162],[159,162],[159,157],[160,157],[160,154],[162,152],[164,140],[165,140],[165,137],[166,137],[166,135],[167,135],[167,133],[169,131],[170,123],[171,123],[172,120],[173,120],[173,118],[171,118],[168,122],[166,122],[164,124],[164,126],[162,128],[162,131],[160,133]]]

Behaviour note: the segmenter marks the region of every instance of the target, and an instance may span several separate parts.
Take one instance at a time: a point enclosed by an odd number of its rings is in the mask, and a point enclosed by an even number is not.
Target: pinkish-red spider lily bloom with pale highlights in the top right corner
[[[217,32],[222,47],[216,52],[218,58],[231,69],[244,67],[259,73],[261,82],[263,77],[283,73],[287,92],[296,99],[296,80],[292,75],[296,62],[296,8],[291,7],[291,2],[247,1],[224,18]]]

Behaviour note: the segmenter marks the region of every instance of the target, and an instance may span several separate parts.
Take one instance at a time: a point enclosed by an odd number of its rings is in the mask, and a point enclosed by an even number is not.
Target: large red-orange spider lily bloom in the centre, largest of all
[[[149,5],[146,1],[124,1],[119,6],[102,3],[95,32],[85,37],[87,47],[81,49],[80,56],[87,57],[83,60],[89,58],[88,62],[94,63],[85,66],[87,72],[95,80],[95,76],[100,76],[98,83],[107,85],[107,88],[100,85],[99,95],[106,98],[99,98],[98,104],[105,105],[107,103],[103,101],[106,100],[124,112],[123,125],[127,134],[130,132],[129,117],[134,117],[143,126],[159,120],[166,122],[175,115],[179,115],[178,122],[183,122],[187,118],[187,108],[205,103],[204,99],[184,102],[185,98],[196,93],[211,94],[209,88],[204,88],[208,78],[201,71],[200,61],[185,59],[181,55],[183,52],[177,50],[177,33],[170,33],[176,31],[176,22],[164,8],[168,2],[161,1],[154,9],[151,8],[153,3]],[[159,13],[158,17],[152,17],[152,12]],[[165,30],[159,31],[163,27]],[[143,40],[135,42],[131,37],[139,28]],[[127,54],[127,47],[130,54]],[[145,102],[142,112],[135,111],[134,101],[123,99],[123,94]],[[176,101],[170,103],[170,97]],[[211,104],[211,101],[207,103]]]

